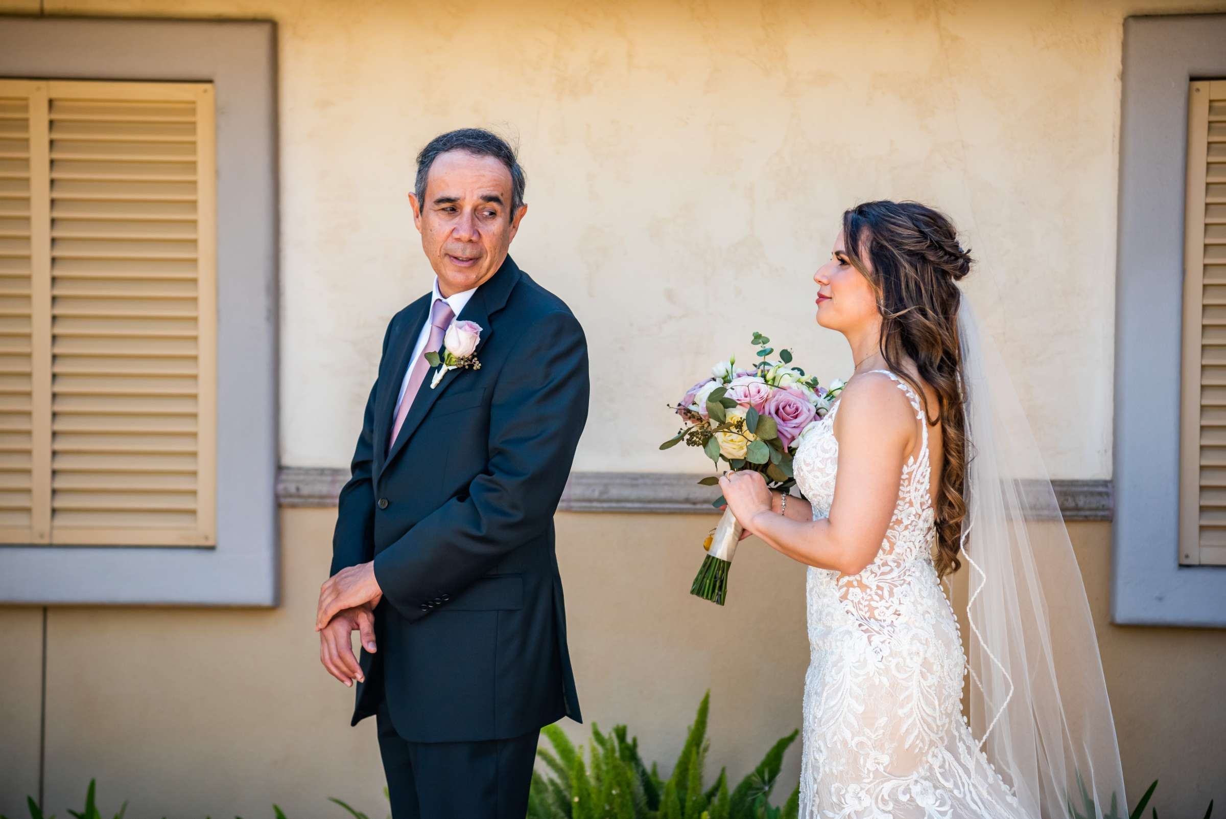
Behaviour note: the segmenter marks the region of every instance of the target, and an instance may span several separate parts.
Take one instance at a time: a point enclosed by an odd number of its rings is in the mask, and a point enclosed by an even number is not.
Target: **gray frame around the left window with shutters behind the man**
[[[2,603],[278,602],[276,44],[268,21],[0,17],[0,76],[217,101],[217,546],[0,547]]]

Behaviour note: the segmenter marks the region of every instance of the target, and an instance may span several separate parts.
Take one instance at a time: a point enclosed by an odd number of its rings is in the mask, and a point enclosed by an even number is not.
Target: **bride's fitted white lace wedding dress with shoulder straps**
[[[937,579],[928,424],[902,470],[894,520],[858,575],[809,566],[801,819],[1022,819],[961,714],[958,620]],[[814,519],[830,514],[839,441],[836,402],[796,454]]]

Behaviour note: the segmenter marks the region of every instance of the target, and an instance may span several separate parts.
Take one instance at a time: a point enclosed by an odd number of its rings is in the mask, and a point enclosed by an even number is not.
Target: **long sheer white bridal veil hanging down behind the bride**
[[[970,723],[1034,819],[1128,813],[1081,573],[1008,370],[962,293]]]

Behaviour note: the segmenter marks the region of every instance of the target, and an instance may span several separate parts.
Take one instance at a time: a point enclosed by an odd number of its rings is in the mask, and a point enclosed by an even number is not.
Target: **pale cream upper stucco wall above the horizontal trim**
[[[753,330],[846,375],[809,277],[843,207],[916,197],[966,229],[1053,476],[1105,478],[1122,21],[1226,4],[0,0],[39,7],[277,22],[286,463],[351,455],[386,320],[429,287],[414,152],[481,124],[522,145],[517,260],[592,341],[579,468],[701,468],[650,445],[660,405]]]

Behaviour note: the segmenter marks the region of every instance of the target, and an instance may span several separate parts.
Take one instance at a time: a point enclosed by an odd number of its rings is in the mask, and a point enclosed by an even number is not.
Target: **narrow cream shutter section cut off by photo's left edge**
[[[47,83],[0,80],[0,543],[48,543]]]

